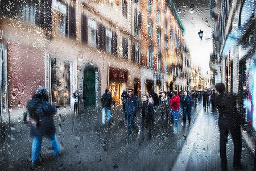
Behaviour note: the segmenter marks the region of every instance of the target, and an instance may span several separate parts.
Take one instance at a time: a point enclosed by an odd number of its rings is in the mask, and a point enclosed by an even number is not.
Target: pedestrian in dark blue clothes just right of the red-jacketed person
[[[183,110],[183,118],[181,126],[185,126],[188,117],[188,124],[191,124],[191,108],[192,108],[192,98],[187,91],[184,92],[183,97],[181,98],[181,107]]]

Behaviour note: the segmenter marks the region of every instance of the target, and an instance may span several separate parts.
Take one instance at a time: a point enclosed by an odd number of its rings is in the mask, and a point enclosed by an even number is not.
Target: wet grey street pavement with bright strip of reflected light
[[[75,118],[69,109],[60,109],[55,117],[58,138],[64,155],[51,154],[49,141],[43,140],[43,162],[38,170],[220,170],[217,114],[204,112],[201,102],[192,110],[192,123],[177,134],[172,122],[162,124],[156,114],[152,140],[139,145],[140,136],[129,143],[122,112],[113,114],[111,126],[101,128],[101,112],[85,110]],[[141,124],[137,116],[138,126]],[[181,115],[180,115],[181,119]],[[74,128],[73,128],[74,126]],[[2,170],[30,169],[31,138],[26,124],[14,123],[1,148]],[[72,131],[73,130],[73,131]],[[228,140],[229,165],[232,166],[233,143]],[[253,153],[243,140],[242,162],[252,170]],[[193,168],[193,169],[192,169]]]

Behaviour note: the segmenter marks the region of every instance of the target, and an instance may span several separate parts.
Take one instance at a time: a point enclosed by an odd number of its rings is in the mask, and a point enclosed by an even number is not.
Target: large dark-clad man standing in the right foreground
[[[222,170],[227,169],[226,143],[230,132],[234,143],[233,168],[241,168],[241,116],[237,111],[237,97],[233,94],[225,93],[225,85],[218,83],[215,85],[217,92],[215,104],[218,107],[218,127],[220,128],[220,156]]]

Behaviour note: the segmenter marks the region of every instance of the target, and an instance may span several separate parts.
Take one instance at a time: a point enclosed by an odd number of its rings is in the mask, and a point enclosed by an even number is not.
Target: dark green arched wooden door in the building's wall
[[[94,69],[84,70],[84,105],[95,106],[95,72]]]

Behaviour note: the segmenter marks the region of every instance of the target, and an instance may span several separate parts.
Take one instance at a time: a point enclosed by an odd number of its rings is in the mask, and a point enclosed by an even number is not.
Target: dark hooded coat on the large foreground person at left
[[[55,134],[53,116],[56,114],[56,107],[48,101],[33,97],[27,103],[27,110],[30,117],[36,120],[37,124],[31,124],[30,135],[33,136],[51,136]]]

